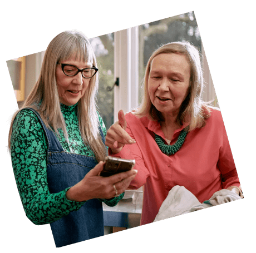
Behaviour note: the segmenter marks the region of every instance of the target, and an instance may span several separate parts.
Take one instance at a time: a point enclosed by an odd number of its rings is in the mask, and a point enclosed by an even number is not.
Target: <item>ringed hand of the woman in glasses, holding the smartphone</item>
[[[90,199],[111,199],[116,196],[116,190],[118,195],[124,192],[137,174],[137,171],[132,169],[102,177],[99,175],[103,166],[104,162],[101,161],[92,168],[80,182],[68,189],[66,198],[79,202]]]

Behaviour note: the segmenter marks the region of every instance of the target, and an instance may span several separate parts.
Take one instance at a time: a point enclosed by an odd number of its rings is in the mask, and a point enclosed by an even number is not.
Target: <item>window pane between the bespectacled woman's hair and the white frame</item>
[[[99,68],[99,96],[97,106],[106,129],[114,123],[114,90],[107,87],[114,84],[114,33],[107,33],[89,39],[95,52]]]

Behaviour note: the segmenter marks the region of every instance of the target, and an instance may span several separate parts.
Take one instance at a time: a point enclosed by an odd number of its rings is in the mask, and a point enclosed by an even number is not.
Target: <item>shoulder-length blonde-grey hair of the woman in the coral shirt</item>
[[[201,68],[200,52],[189,42],[171,42],[164,44],[154,51],[147,62],[145,76],[144,76],[144,97],[141,107],[136,110],[135,115],[149,116],[153,120],[164,121],[163,116],[152,105],[148,91],[148,80],[151,70],[152,60],[161,53],[180,53],[188,57],[190,62],[190,87],[188,96],[181,104],[177,123],[189,123],[186,130],[191,131],[196,127],[203,127],[205,120],[210,116],[210,107],[201,100],[201,93],[203,91],[204,80],[203,70]]]

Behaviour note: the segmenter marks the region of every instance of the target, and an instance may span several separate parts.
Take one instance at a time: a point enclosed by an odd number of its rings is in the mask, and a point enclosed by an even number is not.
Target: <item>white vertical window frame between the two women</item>
[[[114,88],[114,121],[119,110],[124,113],[139,106],[139,27],[115,32],[114,78],[119,86]]]

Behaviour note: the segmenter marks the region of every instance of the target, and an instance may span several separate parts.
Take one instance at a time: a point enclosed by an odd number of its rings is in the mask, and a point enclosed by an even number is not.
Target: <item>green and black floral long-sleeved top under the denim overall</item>
[[[93,156],[80,135],[77,119],[77,104],[74,106],[61,105],[61,111],[66,122],[69,143],[65,140],[62,130],[57,136],[66,152]],[[99,113],[98,113],[99,115]],[[99,121],[106,136],[106,127],[99,115]],[[47,185],[46,159],[48,143],[43,128],[35,113],[22,110],[13,123],[11,136],[11,160],[23,209],[36,225],[54,222],[72,211],[80,209],[85,202],[66,199],[65,190],[50,194]],[[111,200],[101,200],[108,206],[115,206],[124,197],[124,193]]]

